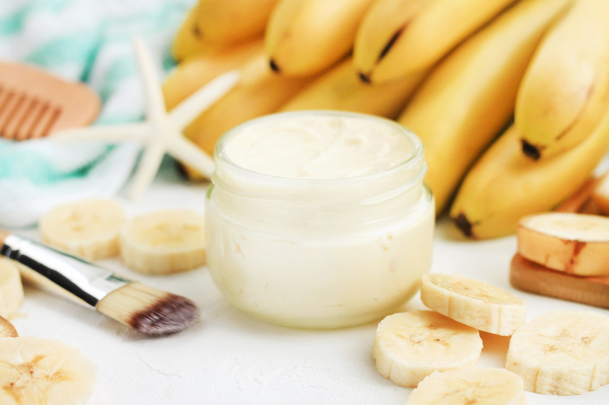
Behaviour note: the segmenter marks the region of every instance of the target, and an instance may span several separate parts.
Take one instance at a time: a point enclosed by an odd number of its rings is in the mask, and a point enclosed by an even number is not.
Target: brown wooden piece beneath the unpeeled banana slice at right
[[[549,270],[518,253],[512,259],[510,283],[519,290],[609,308],[609,276],[581,277]]]

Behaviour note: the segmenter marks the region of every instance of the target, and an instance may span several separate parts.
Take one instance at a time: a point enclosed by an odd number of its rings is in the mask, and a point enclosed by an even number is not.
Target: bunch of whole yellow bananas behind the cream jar
[[[273,112],[397,119],[468,237],[553,209],[609,148],[607,0],[200,0],[173,49],[168,109],[241,70],[185,131],[204,151]]]

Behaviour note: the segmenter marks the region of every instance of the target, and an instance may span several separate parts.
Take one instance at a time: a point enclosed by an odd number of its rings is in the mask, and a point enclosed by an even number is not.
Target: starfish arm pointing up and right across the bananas
[[[169,113],[169,120],[178,131],[184,129],[197,116],[222,98],[239,81],[239,71],[231,70],[213,79]]]

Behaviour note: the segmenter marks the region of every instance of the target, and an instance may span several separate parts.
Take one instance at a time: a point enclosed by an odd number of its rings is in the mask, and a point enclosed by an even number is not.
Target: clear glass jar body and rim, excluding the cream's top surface
[[[247,170],[225,146],[248,126],[298,115],[392,126],[412,153],[389,170],[289,179]],[[208,267],[239,309],[272,323],[337,328],[395,312],[431,266],[434,200],[419,138],[395,121],[347,112],[269,115],[224,134],[206,200]]]

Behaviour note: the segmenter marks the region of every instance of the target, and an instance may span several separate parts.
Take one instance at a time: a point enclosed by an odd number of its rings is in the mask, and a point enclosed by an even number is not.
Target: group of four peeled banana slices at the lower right
[[[425,274],[421,301],[433,311],[389,315],[372,349],[382,376],[416,387],[407,405],[518,405],[524,390],[579,395],[609,384],[603,315],[554,311],[525,324],[523,299],[456,274]],[[475,367],[479,331],[512,336],[505,370]]]

